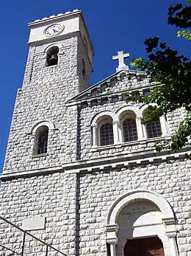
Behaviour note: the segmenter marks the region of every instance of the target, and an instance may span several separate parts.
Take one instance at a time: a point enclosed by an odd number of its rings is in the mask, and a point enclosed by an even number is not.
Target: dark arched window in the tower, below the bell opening
[[[37,128],[35,134],[35,154],[47,153],[48,147],[48,127],[42,125]]]

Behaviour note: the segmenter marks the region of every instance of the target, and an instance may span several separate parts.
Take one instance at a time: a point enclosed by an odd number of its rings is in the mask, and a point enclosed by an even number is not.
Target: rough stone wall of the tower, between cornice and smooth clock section
[[[10,138],[4,162],[4,173],[60,166],[60,153],[65,162],[77,158],[78,111],[66,108],[65,100],[89,86],[82,81],[82,49],[79,38],[60,41],[57,66],[45,66],[47,48],[40,45],[29,49],[24,86],[18,89],[10,128]],[[89,77],[87,70],[87,77]],[[55,129],[48,134],[48,154],[34,155],[34,134],[30,130],[35,123],[50,121]],[[70,122],[68,122],[70,121]]]

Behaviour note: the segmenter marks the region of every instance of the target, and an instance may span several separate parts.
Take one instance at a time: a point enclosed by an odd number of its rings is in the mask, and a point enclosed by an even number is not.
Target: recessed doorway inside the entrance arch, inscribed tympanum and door
[[[162,223],[162,212],[151,201],[143,198],[131,201],[120,210],[117,223],[119,229],[116,249],[119,256],[151,256],[151,253],[147,253],[151,242],[156,247],[159,247],[160,243],[160,248],[163,248],[163,243],[165,248],[168,246],[165,226]],[[124,247],[126,251],[123,250]],[[131,252],[128,251],[129,248]],[[124,252],[126,255],[123,255]],[[132,252],[134,255],[131,255]],[[139,255],[138,252],[142,253]]]

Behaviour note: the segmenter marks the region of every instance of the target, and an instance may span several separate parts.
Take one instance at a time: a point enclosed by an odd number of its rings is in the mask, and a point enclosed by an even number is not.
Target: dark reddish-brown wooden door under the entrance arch
[[[124,256],[165,256],[159,238],[139,238],[126,242]]]

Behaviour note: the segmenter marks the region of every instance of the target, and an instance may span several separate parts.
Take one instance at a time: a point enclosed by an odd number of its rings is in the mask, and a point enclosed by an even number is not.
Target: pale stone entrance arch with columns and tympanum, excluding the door
[[[178,255],[173,210],[157,193],[133,190],[120,196],[110,207],[106,222],[111,256],[124,256],[128,240],[154,236],[162,241],[165,256]]]

